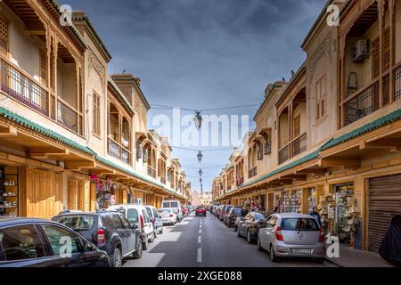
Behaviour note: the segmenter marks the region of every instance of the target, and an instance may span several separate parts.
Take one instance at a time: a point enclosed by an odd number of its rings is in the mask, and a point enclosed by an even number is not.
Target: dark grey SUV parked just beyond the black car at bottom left
[[[129,224],[126,217],[118,212],[100,210],[95,213],[72,213],[54,216],[53,221],[79,232],[106,251],[113,267],[121,266],[123,258],[127,256],[142,257],[138,226]]]

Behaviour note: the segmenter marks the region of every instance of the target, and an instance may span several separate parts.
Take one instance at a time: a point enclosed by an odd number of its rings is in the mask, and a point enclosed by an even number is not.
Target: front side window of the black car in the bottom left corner
[[[52,247],[53,256],[77,254],[80,252],[80,241],[75,234],[53,225],[43,225],[42,227]]]

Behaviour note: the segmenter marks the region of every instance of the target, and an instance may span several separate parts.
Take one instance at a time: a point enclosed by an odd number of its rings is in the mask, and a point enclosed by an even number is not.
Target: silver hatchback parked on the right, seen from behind
[[[314,216],[273,214],[258,232],[258,249],[266,249],[270,259],[308,256],[324,260],[324,233]]]

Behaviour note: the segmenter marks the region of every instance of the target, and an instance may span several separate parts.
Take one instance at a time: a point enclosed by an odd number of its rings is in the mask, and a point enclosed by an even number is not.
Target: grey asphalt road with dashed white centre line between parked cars
[[[141,259],[127,259],[124,267],[331,267],[304,258],[269,260],[255,244],[237,237],[215,216],[193,214],[176,226],[165,226],[163,234],[149,244]]]

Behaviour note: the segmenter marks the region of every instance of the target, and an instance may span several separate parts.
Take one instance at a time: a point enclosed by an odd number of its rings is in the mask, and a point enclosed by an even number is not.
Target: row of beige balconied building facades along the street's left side
[[[186,203],[184,173],[167,181],[179,164],[168,139],[147,128],[139,78],[107,73],[110,53],[86,14],[69,26],[53,0],[0,8],[0,215]]]

